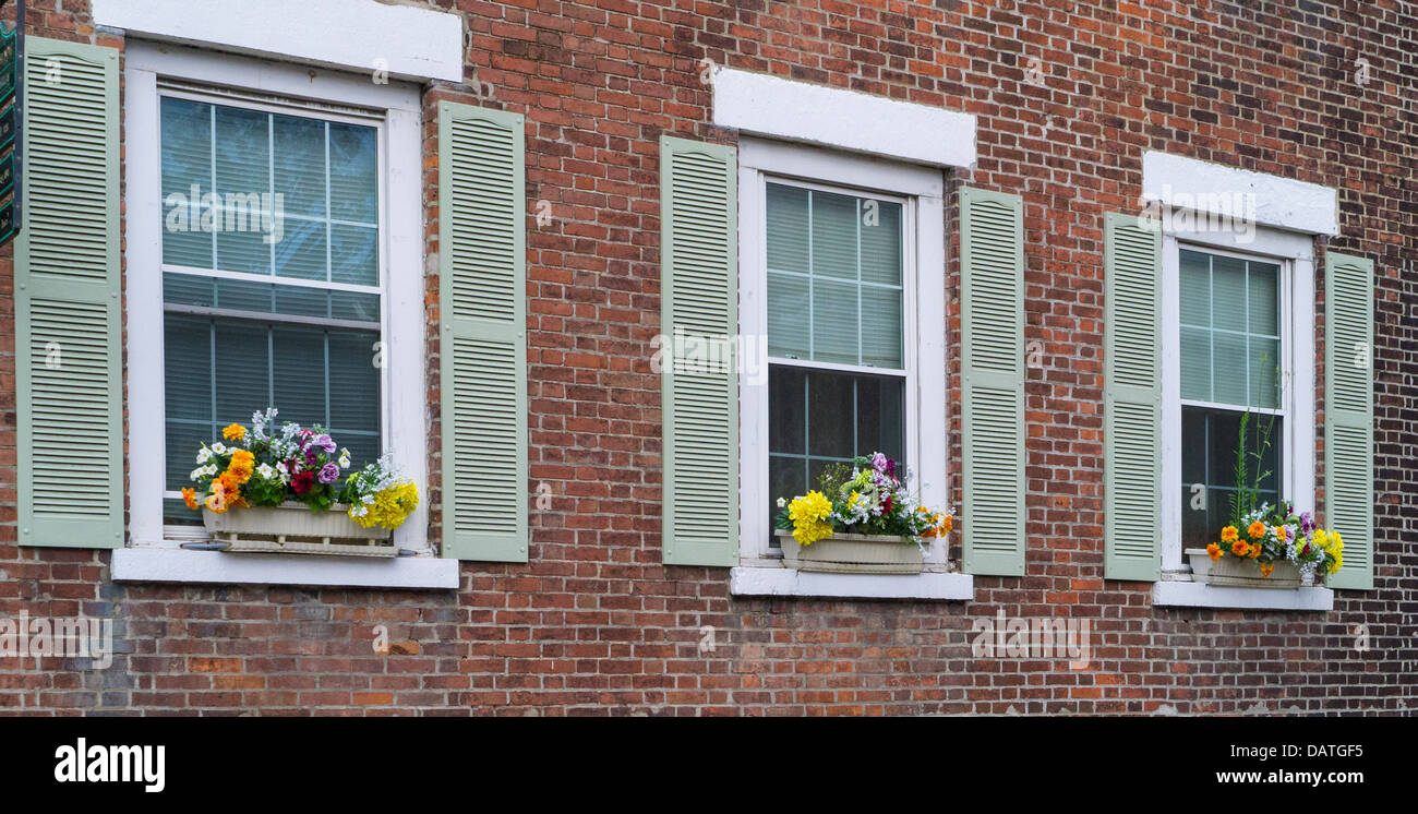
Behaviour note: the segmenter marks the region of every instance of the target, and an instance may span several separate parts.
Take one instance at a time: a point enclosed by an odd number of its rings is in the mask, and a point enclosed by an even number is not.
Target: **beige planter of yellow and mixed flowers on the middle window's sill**
[[[923,539],[950,533],[954,516],[917,505],[908,475],[881,452],[822,472],[813,489],[778,498],[774,526],[788,567],[831,573],[920,573]]]

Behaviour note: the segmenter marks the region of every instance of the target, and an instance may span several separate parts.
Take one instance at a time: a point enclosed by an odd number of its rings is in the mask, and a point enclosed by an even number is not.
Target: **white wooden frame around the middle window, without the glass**
[[[767,201],[770,180],[858,196],[878,193],[903,206],[903,364],[906,462],[920,501],[946,505],[946,235],[939,169],[742,138],[739,142],[739,329],[759,359],[739,376],[740,562],[781,566],[769,526]],[[788,360],[788,363],[794,363]],[[882,369],[795,362],[813,369],[881,374]],[[929,540],[927,570],[944,570],[947,547]]]

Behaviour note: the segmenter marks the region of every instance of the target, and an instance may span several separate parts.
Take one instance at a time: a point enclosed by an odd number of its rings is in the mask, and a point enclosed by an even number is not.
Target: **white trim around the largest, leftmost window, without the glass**
[[[427,428],[424,374],[424,278],[421,155],[423,112],[420,92],[403,84],[377,85],[367,77],[312,72],[296,65],[274,65],[244,57],[211,54],[172,45],[129,43],[125,69],[125,296],[128,329],[129,407],[129,546],[177,547],[182,540],[164,533],[162,494],[163,457],[163,299],[162,299],[162,189],[159,139],[159,77],[242,91],[373,109],[381,113],[380,223],[386,294],[386,366],[383,387],[384,447],[427,489]],[[315,111],[318,115],[318,111]],[[432,556],[428,543],[427,495],[396,532],[396,545],[420,556]],[[187,552],[233,557],[213,552]],[[129,557],[132,559],[132,557]],[[408,559],[408,557],[401,557]],[[183,562],[190,560],[186,557]],[[136,560],[133,560],[136,562]],[[146,560],[145,560],[146,562]],[[174,560],[176,562],[176,560]],[[328,560],[318,560],[329,564]],[[241,569],[240,581],[289,583],[284,572],[291,559],[268,569]],[[455,564],[455,563],[454,563]],[[406,566],[383,566],[406,569]],[[210,570],[210,569],[208,569]],[[299,569],[298,569],[299,570]],[[308,570],[308,569],[306,569]],[[374,570],[370,566],[367,570]],[[128,572],[126,579],[138,572]],[[235,569],[233,569],[233,574]],[[210,574],[208,574],[210,576]],[[254,579],[267,577],[267,579]],[[156,579],[156,577],[155,577]],[[444,577],[440,577],[445,581]],[[194,577],[191,581],[213,581]],[[230,580],[216,580],[230,581]],[[309,583],[309,580],[303,580]],[[318,583],[326,584],[326,583]],[[340,583],[364,584],[364,583]],[[406,586],[408,587],[408,586]],[[427,586],[438,587],[438,586]]]

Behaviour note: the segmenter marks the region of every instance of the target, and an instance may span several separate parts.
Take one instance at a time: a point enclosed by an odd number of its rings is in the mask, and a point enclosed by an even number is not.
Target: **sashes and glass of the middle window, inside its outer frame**
[[[905,201],[767,182],[769,499],[906,450]],[[771,509],[770,509],[771,511]]]

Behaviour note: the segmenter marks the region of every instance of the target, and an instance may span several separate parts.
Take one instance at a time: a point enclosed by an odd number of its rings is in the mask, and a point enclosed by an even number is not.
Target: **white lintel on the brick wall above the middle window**
[[[718,68],[713,123],[922,165],[968,167],[976,118],[915,102]]]

